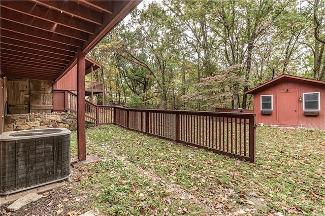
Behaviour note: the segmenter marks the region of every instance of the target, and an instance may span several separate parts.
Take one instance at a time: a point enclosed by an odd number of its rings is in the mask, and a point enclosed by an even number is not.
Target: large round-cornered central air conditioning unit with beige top
[[[0,194],[12,194],[69,177],[70,134],[67,128],[2,133]]]

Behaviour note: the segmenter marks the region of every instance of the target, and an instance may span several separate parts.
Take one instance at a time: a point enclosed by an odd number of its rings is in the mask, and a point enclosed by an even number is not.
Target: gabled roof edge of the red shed
[[[313,79],[284,74],[284,75],[281,75],[280,77],[277,77],[277,78],[270,80],[262,85],[256,86],[255,88],[252,88],[252,89],[246,91],[245,94],[254,94],[255,92],[262,91],[263,89],[268,88],[271,84],[274,84],[277,82],[285,82],[285,81],[294,81],[294,82],[302,81],[302,82],[308,82],[310,84],[323,84],[325,87],[324,81],[313,80]]]

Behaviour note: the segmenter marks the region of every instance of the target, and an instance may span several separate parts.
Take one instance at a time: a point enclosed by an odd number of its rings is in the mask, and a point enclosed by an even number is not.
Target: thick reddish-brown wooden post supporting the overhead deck
[[[80,50],[77,53],[77,139],[79,161],[86,160],[86,106],[85,106],[85,76],[86,54]]]

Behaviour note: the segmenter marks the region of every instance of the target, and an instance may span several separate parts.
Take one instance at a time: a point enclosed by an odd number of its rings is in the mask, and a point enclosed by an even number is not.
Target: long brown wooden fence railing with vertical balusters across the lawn
[[[77,115],[77,95],[71,91],[64,91],[64,95],[64,110]],[[97,125],[116,124],[129,130],[255,162],[255,114],[127,109],[121,106],[98,106],[89,101],[85,103],[86,120]]]

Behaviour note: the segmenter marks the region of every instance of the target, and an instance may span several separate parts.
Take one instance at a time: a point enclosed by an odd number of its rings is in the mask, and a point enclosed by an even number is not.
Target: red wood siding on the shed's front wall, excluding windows
[[[320,111],[318,116],[305,116],[303,112],[303,93],[320,92]],[[261,95],[273,95],[271,115],[261,114]],[[295,112],[297,107],[297,111]],[[289,127],[325,129],[325,85],[299,80],[271,83],[268,88],[254,93],[256,123]]]

